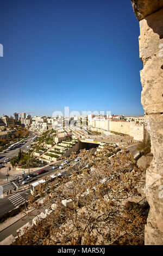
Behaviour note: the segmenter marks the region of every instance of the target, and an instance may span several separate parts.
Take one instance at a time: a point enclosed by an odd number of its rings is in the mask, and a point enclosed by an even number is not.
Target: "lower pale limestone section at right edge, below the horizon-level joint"
[[[150,211],[145,228],[146,245],[163,245],[163,114],[146,115],[153,160],[146,171],[146,196]]]

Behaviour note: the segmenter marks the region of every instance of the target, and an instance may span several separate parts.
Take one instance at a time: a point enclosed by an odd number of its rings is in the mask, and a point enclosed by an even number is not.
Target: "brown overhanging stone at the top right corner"
[[[131,0],[131,3],[139,21],[163,7],[163,0]]]

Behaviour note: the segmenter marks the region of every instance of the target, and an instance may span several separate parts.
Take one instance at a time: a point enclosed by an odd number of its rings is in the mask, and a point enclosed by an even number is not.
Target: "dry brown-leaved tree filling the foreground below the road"
[[[112,155],[111,157],[108,157]],[[71,178],[40,184],[31,196],[36,208],[46,207],[53,212],[40,220],[23,236],[17,245],[142,245],[147,212],[136,202],[143,186],[142,173],[126,149],[105,145],[96,155],[80,150],[82,160],[67,167]],[[71,159],[76,154],[72,153]],[[35,202],[36,194],[49,193],[44,206]]]

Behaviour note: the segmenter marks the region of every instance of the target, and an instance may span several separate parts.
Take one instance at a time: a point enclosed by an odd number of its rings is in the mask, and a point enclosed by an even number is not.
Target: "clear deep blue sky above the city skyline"
[[[130,0],[7,0],[0,115],[141,115],[139,22]]]

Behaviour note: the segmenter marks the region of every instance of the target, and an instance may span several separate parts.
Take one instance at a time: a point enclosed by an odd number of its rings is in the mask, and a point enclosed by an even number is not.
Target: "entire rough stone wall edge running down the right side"
[[[131,2],[140,21],[141,102],[153,153],[153,161],[146,171],[150,211],[145,245],[163,245],[163,0]]]

